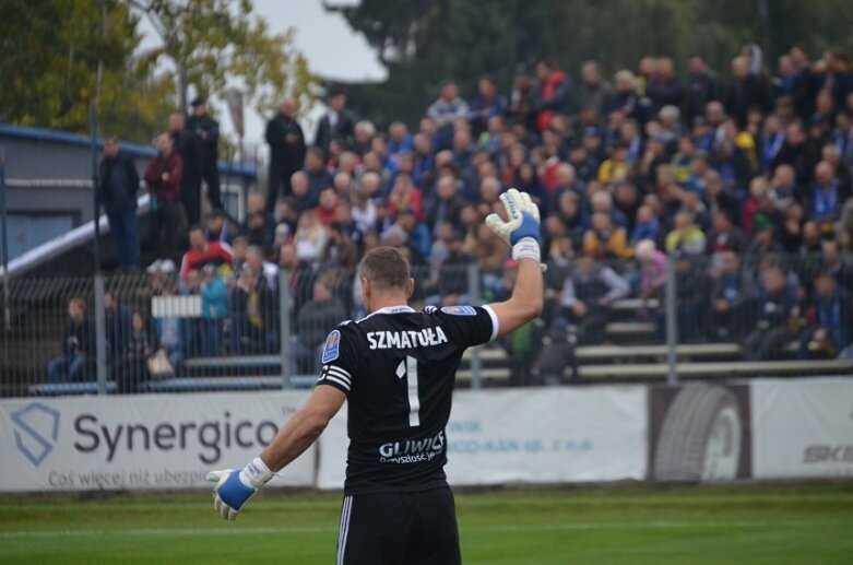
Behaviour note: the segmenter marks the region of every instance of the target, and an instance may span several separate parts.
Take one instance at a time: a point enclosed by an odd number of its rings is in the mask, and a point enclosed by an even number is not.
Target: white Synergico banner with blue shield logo
[[[0,492],[208,489],[241,467],[306,392],[74,397],[0,401]],[[310,486],[312,449],[271,486]]]

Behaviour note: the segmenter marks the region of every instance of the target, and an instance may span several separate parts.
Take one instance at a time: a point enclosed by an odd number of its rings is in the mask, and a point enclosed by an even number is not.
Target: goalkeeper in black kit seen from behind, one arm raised
[[[460,562],[447,435],[455,372],[466,348],[528,323],[542,311],[540,212],[530,196],[500,197],[507,219],[487,225],[512,247],[512,296],[483,307],[407,305],[414,290],[405,257],[369,251],[359,276],[368,316],[329,334],[311,397],[259,457],[241,470],[208,473],[214,508],[234,520],[275,473],[305,451],[348,401],[346,482],[337,563]]]

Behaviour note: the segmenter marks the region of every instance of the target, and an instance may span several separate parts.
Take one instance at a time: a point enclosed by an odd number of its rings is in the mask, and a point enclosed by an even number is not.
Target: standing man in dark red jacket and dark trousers
[[[168,133],[161,133],[157,138],[157,156],[145,168],[145,183],[151,192],[151,236],[155,254],[149,272],[175,271],[178,227],[183,215],[180,203],[182,177],[183,163],[174,151],[171,138]]]

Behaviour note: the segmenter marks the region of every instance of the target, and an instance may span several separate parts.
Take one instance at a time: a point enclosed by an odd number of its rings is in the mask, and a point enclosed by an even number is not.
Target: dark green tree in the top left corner
[[[133,57],[137,23],[100,0],[0,3],[0,121],[86,132],[97,98],[102,131],[150,139],[144,126],[174,90]]]

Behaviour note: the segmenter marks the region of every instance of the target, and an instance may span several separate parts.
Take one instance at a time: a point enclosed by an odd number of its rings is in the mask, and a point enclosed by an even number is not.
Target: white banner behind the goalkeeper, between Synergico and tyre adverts
[[[341,489],[346,411],[320,438],[320,489]],[[450,484],[643,480],[643,386],[459,391],[447,427]]]

